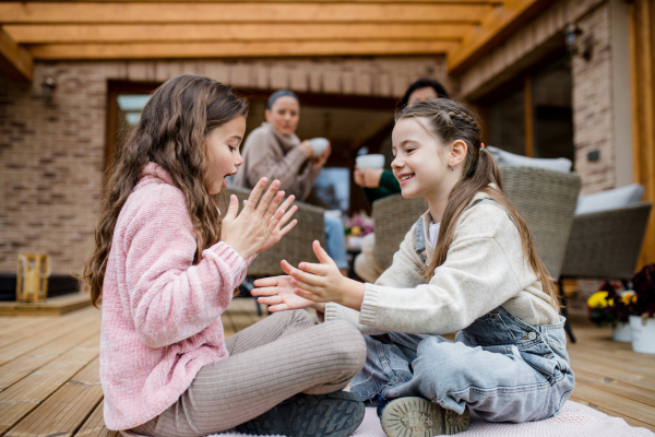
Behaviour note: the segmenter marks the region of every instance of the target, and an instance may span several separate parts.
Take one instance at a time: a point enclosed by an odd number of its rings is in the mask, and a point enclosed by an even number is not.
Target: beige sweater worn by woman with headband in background
[[[300,173],[307,154],[298,144],[300,140],[295,133],[283,135],[264,121],[248,135],[243,144],[243,166],[235,176],[235,185],[251,189],[265,176],[269,181],[278,179],[279,189],[287,196],[294,194],[296,199],[305,200],[321,169],[307,165]]]

